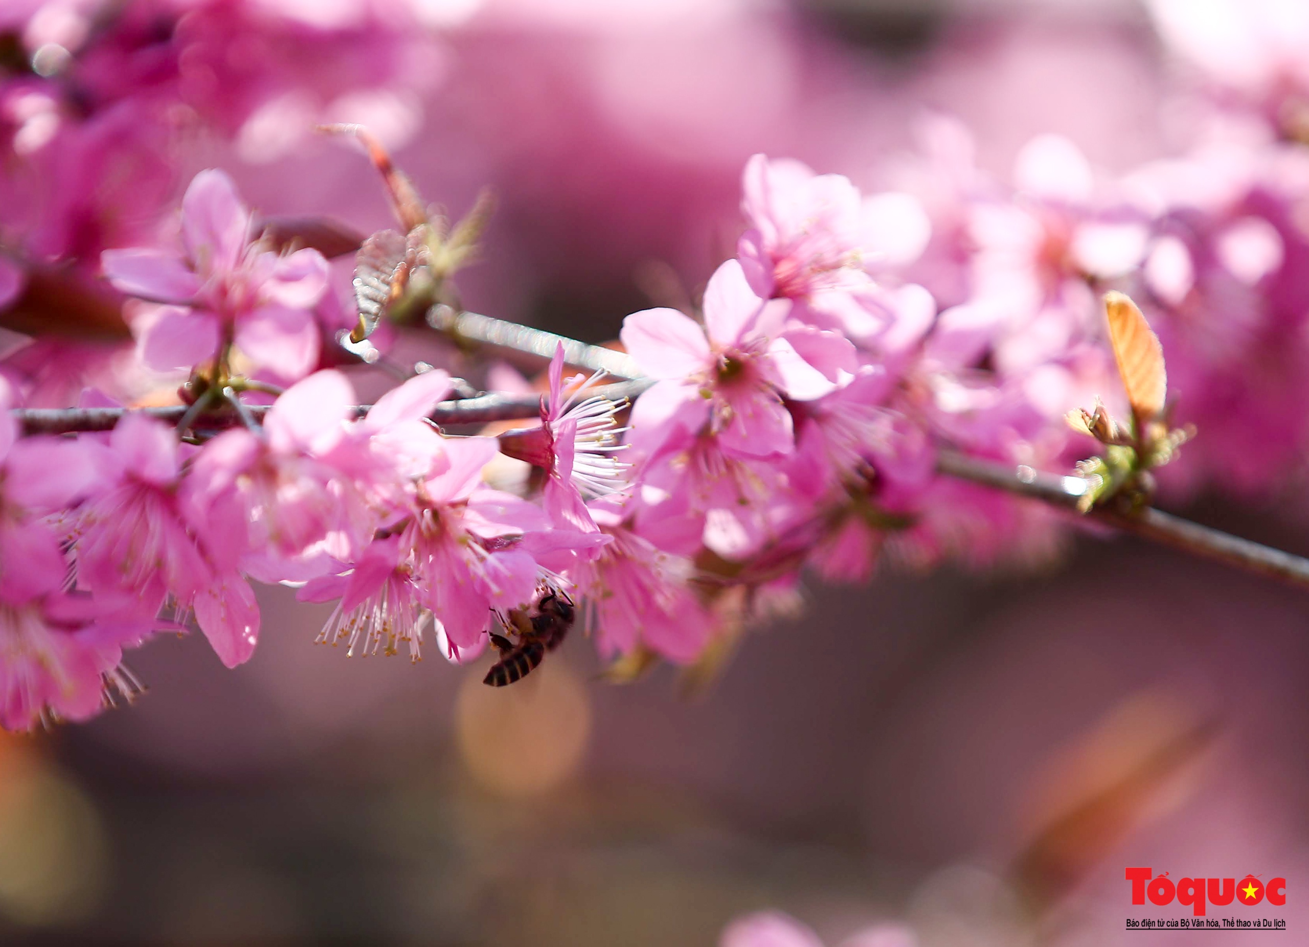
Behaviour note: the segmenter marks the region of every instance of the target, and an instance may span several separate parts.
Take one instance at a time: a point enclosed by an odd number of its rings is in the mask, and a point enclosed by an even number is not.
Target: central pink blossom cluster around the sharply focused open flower
[[[897,274],[927,245],[920,206],[762,155],[744,186],[749,229],[703,327],[672,309],[623,324],[658,379],[631,417],[631,529],[751,588],[788,588],[805,565],[867,578],[884,545],[931,562],[1039,542],[1024,507],[935,474],[940,444],[1041,464],[1067,439],[1047,430],[1063,411],[984,367],[1001,330],[980,305],[939,314]]]

